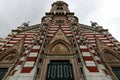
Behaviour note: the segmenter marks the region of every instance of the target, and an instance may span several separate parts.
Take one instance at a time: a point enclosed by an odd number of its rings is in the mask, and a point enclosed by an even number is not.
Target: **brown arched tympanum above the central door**
[[[45,53],[49,54],[73,54],[75,51],[72,49],[71,45],[64,40],[56,40],[46,49]]]

